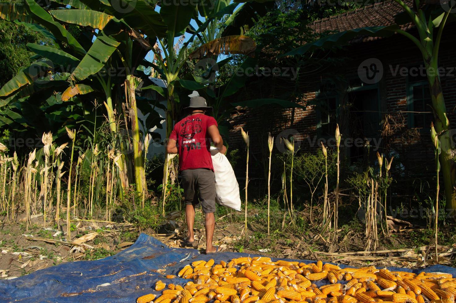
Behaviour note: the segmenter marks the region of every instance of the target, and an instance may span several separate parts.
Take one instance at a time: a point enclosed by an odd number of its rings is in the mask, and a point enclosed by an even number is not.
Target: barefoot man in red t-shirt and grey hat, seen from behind
[[[205,115],[207,110],[212,109],[207,106],[206,99],[192,97],[190,106],[184,108],[186,109],[190,110],[190,114],[174,126],[166,145],[166,153],[179,154],[188,229],[187,244],[192,245],[195,241],[193,223],[195,206],[199,204],[198,192],[205,214],[206,253],[218,252],[218,247],[212,246],[215,227],[215,175],[210,152],[211,141],[222,154],[225,154],[226,147],[223,146],[222,136],[218,132],[217,121]]]

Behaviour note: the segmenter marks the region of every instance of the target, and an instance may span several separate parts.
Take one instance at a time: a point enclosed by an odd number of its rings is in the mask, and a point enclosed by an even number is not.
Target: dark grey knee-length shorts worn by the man
[[[215,212],[215,175],[210,169],[197,168],[181,171],[186,205],[201,207],[205,214]],[[198,192],[198,195],[197,195]]]

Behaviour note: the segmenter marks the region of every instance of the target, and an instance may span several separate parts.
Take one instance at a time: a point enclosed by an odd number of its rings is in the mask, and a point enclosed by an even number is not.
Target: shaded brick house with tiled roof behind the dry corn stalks
[[[411,5],[411,1],[405,2]],[[387,26],[394,24],[394,16],[402,11],[394,1],[387,0],[315,21],[309,26],[318,33]],[[402,29],[417,36],[411,24]],[[453,123],[456,118],[453,114],[456,107],[454,30],[453,24],[446,25],[439,56],[446,108]],[[305,110],[237,108],[230,121],[231,144],[241,146],[238,130],[242,125],[252,137],[259,136],[253,141],[261,142],[262,148],[266,146],[267,132],[271,131],[275,136],[296,134],[302,150],[315,151],[320,148],[321,139],[326,144],[334,144],[331,138],[339,123],[345,139],[342,152],[349,163],[364,161],[372,165],[378,150],[389,154],[388,157],[395,155],[405,171],[418,175],[432,172],[430,122],[433,114],[423,59],[415,44],[399,34],[389,38],[361,37],[332,56],[348,60],[342,71],[334,71],[342,79],[329,81],[323,74],[313,75],[311,81],[307,81],[310,84],[300,87],[303,97],[299,103],[306,106]],[[255,90],[258,85],[249,83],[246,91]],[[256,94],[262,93],[256,89]],[[264,95],[253,99],[271,98],[268,93],[270,91],[264,88]],[[244,98],[243,94],[238,98]],[[365,147],[366,139],[370,141],[369,149]]]

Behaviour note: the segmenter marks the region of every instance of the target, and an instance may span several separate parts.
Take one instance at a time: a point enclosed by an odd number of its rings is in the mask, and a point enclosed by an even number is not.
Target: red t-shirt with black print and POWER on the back
[[[180,170],[207,168],[214,170],[211,158],[211,138],[207,128],[217,121],[205,114],[187,116],[174,126],[170,139],[177,141]]]

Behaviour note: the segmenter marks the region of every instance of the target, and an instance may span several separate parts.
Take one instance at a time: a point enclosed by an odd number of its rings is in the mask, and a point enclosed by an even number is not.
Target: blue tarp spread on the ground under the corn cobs
[[[135,302],[136,298],[144,294],[158,293],[153,289],[158,279],[166,284],[186,283],[187,279],[166,279],[165,276],[176,275],[182,267],[195,260],[207,261],[214,258],[217,263],[241,256],[247,254],[220,252],[200,255],[195,249],[172,249],[154,237],[140,234],[131,247],[111,257],[96,261],[67,262],[13,280],[0,280],[0,302]],[[186,257],[186,261],[180,262]],[[416,270],[389,269],[447,272],[456,277],[455,268],[442,265]],[[105,283],[109,285],[100,286]]]

